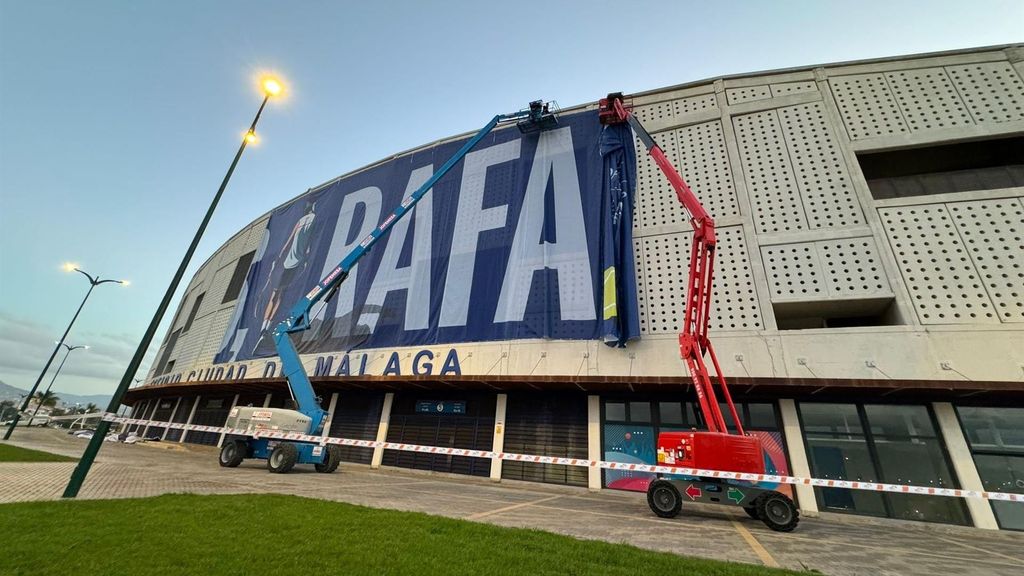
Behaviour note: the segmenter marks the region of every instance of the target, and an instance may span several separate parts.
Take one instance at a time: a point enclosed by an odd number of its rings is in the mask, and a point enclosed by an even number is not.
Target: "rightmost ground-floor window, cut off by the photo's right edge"
[[[985,490],[1024,494],[1024,408],[957,406]],[[991,501],[999,527],[1024,530],[1024,506]]]

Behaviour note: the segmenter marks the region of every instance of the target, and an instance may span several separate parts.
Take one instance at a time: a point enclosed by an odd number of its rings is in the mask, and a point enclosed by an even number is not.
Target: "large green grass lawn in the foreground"
[[[4,574],[795,574],[275,494],[0,504]]]

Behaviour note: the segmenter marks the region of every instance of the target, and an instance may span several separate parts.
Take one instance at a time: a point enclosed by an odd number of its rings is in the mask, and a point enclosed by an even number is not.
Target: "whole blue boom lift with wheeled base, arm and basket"
[[[226,426],[245,429],[249,434],[259,430],[280,430],[301,433],[311,436],[322,436],[328,413],[321,407],[313,392],[309,377],[302,367],[299,354],[292,343],[291,335],[309,328],[310,312],[318,301],[328,301],[337,293],[341,283],[348,278],[348,273],[356,262],[365,256],[391,228],[406,214],[411,212],[416,203],[433,188],[463,157],[466,156],[484,136],[502,124],[515,122],[519,131],[527,134],[548,130],[557,126],[558,119],[551,109],[550,102],[536,100],[529,102],[529,108],[511,114],[499,114],[490,119],[479,132],[466,141],[436,172],[416,192],[402,200],[401,204],[381,222],[362,242],[332,270],[316,286],[313,287],[298,303],[292,307],[288,318],[273,330],[273,342],[281,357],[282,373],[288,380],[292,398],[298,410],[285,408],[253,408],[237,407],[231,409]],[[268,439],[244,437],[226,438],[220,451],[220,465],[238,466],[245,458],[265,459],[267,469],[283,474],[292,469],[295,464],[313,464],[317,471],[332,472],[338,467],[341,452],[338,446],[321,446],[308,442],[285,442]]]

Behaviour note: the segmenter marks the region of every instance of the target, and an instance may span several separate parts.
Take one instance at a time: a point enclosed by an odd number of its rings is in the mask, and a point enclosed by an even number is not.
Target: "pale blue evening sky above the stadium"
[[[532,99],[1021,42],[1022,0],[0,0],[0,381],[39,376],[88,289],[61,271],[73,261],[131,284],[92,293],[68,338],[91,347],[54,389],[117,387],[265,71],[287,95],[267,106],[182,288],[274,206]]]

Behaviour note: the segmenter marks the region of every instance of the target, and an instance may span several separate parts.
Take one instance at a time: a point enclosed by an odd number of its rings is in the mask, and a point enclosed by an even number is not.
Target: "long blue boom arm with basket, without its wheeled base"
[[[447,162],[441,165],[427,181],[423,182],[423,186],[402,200],[401,204],[388,217],[384,218],[384,221],[374,229],[369,236],[362,239],[362,242],[353,248],[312,290],[299,300],[292,307],[288,318],[274,328],[273,342],[278,348],[278,355],[281,357],[282,373],[288,379],[288,385],[292,389],[292,395],[298,404],[299,411],[311,418],[309,424],[311,433],[319,429],[327,413],[316,402],[312,384],[309,382],[309,377],[302,367],[302,362],[299,359],[298,352],[295,349],[295,345],[292,343],[290,334],[307,330],[310,322],[309,313],[313,305],[321,300],[329,300],[337,292],[341,283],[348,278],[348,274],[352,268],[373,248],[374,244],[386,235],[395,222],[411,212],[420,199],[433,188],[434,183],[443,177],[469,151],[473,150],[484,136],[499,124],[512,121],[517,123],[519,131],[523,133],[546,130],[557,124],[557,118],[554,113],[550,112],[548,105],[541,100],[530,102],[529,108],[526,110],[511,114],[499,114],[492,118],[490,122],[487,122],[483,128],[480,128],[472,138],[466,140],[466,143]]]

